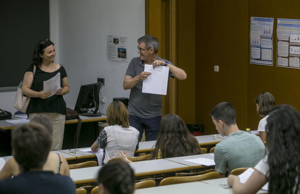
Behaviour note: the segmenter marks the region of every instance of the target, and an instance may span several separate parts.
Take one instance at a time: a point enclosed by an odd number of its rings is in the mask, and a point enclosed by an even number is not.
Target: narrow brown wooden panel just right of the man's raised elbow
[[[185,123],[195,123],[195,65],[196,65],[196,2],[178,1],[178,67],[187,73],[186,80],[178,80],[178,115]]]

